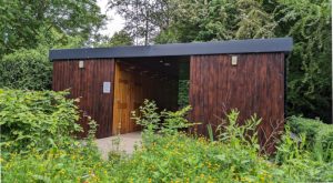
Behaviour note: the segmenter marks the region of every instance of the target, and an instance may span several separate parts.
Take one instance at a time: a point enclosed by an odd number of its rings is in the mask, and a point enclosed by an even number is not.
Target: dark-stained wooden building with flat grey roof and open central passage
[[[140,130],[130,111],[143,99],[176,110],[180,79],[190,80],[190,118],[203,122],[199,133],[206,134],[205,124],[216,126],[219,118],[236,108],[241,120],[261,116],[270,134],[284,120],[285,57],[291,49],[291,38],[276,38],[51,50],[52,87],[81,98],[83,114],[99,124],[98,138]],[[81,124],[87,130],[84,118]]]

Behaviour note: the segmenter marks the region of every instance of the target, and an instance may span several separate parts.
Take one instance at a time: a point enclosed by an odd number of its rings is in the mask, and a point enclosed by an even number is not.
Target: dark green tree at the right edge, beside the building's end
[[[332,121],[331,2],[285,1],[276,9],[281,33],[294,39],[287,65],[290,114]]]

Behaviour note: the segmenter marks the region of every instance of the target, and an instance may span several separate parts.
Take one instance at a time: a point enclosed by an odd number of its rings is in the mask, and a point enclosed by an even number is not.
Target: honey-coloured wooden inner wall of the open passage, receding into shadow
[[[154,100],[161,109],[176,108],[178,82],[161,80],[155,77],[154,71],[142,72],[143,70],[135,65],[121,61],[115,63],[113,135],[141,130],[131,119],[131,112],[135,111],[139,114],[138,109],[144,99]]]

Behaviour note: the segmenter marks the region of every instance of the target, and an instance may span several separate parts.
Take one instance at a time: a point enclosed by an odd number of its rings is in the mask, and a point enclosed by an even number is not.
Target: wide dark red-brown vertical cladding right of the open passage
[[[198,132],[206,135],[206,124],[215,129],[231,109],[240,111],[240,122],[256,113],[262,118],[259,139],[268,146],[266,136],[274,128],[283,130],[284,120],[284,54],[193,55],[190,63],[191,119],[203,122]],[[270,143],[271,144],[271,143]]]

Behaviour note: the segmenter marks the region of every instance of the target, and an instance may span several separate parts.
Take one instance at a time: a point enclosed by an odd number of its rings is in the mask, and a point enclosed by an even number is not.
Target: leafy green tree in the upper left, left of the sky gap
[[[0,58],[20,48],[33,49],[39,39],[60,42],[67,35],[95,39],[104,16],[95,0],[0,0]],[[53,40],[56,34],[59,40]]]

